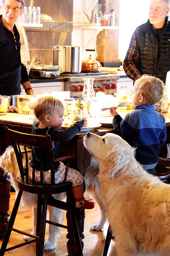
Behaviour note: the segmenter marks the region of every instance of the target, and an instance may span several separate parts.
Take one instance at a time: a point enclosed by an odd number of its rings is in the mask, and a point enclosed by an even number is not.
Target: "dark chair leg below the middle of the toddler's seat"
[[[43,253],[44,253],[46,216],[47,216],[47,195],[44,195],[43,203],[42,203],[42,213],[41,213],[37,256],[43,256]]]

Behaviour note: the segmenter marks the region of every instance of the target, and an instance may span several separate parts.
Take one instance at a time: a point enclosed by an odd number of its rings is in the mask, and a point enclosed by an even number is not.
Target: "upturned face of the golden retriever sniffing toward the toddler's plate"
[[[131,146],[123,140],[120,136],[107,133],[104,136],[99,136],[97,134],[87,132],[84,137],[84,146],[87,150],[94,156],[100,163],[108,152],[114,153],[114,151],[121,150],[132,150]]]

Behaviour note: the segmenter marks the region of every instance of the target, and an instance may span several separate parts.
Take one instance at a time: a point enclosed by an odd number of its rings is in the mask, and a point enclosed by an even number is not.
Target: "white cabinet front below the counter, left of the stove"
[[[62,92],[64,91],[64,82],[31,83],[31,87],[34,93],[48,92],[48,90]],[[21,94],[25,94],[25,90],[22,86]]]

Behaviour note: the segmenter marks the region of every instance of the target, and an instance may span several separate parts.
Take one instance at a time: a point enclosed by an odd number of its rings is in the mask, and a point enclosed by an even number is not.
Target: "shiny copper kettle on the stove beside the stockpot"
[[[91,55],[89,56],[89,59],[87,61],[82,61],[82,72],[99,72],[100,68],[100,62],[94,61],[91,58]]]

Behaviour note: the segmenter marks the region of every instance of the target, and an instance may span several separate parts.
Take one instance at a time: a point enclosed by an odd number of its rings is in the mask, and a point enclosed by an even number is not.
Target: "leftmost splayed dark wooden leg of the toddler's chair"
[[[1,249],[0,249],[0,255],[1,256],[3,256],[5,254],[6,247],[7,247],[10,235],[11,235],[11,228],[14,226],[15,218],[16,218],[16,215],[17,215],[17,212],[18,212],[18,208],[19,208],[19,204],[20,204],[20,201],[21,201],[22,193],[23,193],[23,191],[19,190],[17,198],[15,200],[15,204],[14,204],[14,207],[12,209],[11,217],[10,217],[10,220],[8,222],[8,226],[6,228],[5,236],[4,236],[2,245],[1,245]]]

